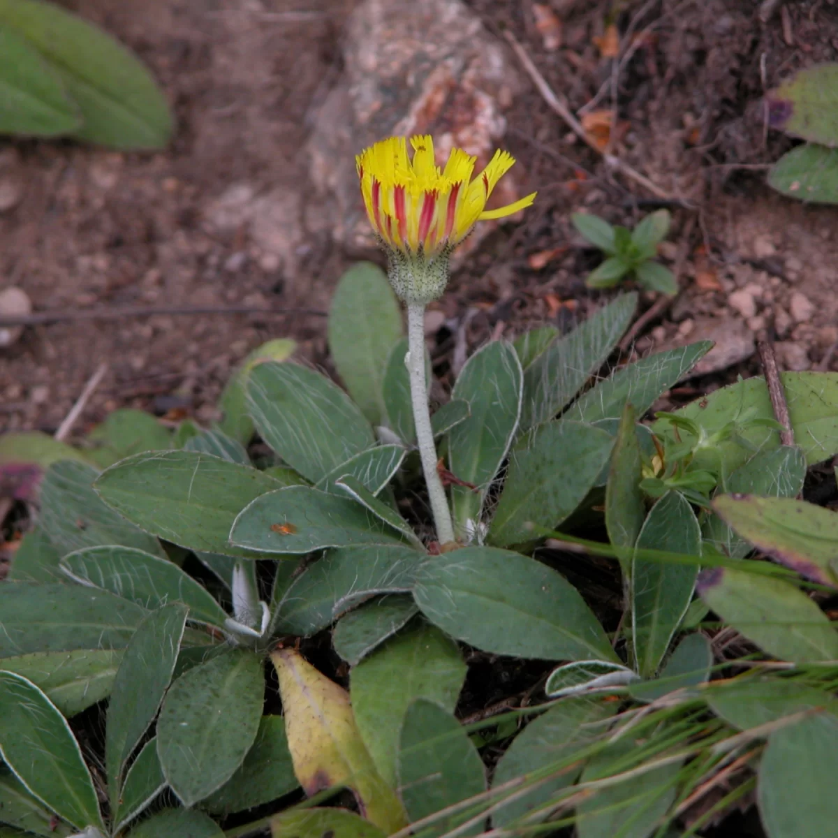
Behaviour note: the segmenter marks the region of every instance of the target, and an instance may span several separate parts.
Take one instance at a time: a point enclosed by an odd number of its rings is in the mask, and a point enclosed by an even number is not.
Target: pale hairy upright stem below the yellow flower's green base
[[[433,521],[437,527],[440,544],[454,541],[454,527],[451,510],[445,497],[445,489],[437,472],[437,448],[433,444],[431,411],[427,405],[427,381],[425,380],[425,305],[407,303],[407,357],[405,363],[411,378],[411,402],[413,422],[416,425],[416,442],[425,472],[428,499],[431,501]]]

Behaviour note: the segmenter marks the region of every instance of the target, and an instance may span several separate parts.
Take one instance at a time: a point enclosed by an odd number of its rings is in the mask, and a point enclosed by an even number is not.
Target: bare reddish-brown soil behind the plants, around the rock
[[[173,102],[178,133],[167,152],[151,155],[7,141],[0,177],[23,192],[0,215],[0,285],[22,287],[38,310],[327,308],[351,259],[328,231],[301,234],[288,219],[308,200],[303,147],[339,75],[353,0],[67,5],[147,62]],[[616,16],[604,0],[553,0],[561,46],[552,50],[530,0],[468,5],[489,31],[509,30],[525,44],[573,111],[592,100],[611,108],[617,91],[625,132],[614,151],[674,199],[663,257],[684,292],[639,334],[640,351],[709,328],[744,335],[746,345],[754,334],[773,337],[788,367],[830,365],[838,215],[773,194],[760,167],[791,145],[766,129],[763,93],[800,67],[835,59],[838,5],[789,0],[763,25],[758,3],[741,0],[622,3]],[[610,20],[624,43],[630,32],[638,44],[616,77],[595,41]],[[602,295],[583,285],[597,256],[573,232],[572,211],[631,225],[660,205],[609,173],[529,82],[525,91],[508,114],[508,145],[522,188],[540,190],[535,209],[489,237],[439,304],[457,318],[449,327],[475,310],[465,333],[474,343],[530,323],[570,322],[597,305]],[[0,429],[54,430],[102,361],[109,372],[79,432],[116,406],[162,412],[169,396],[206,420],[231,366],[256,344],[289,334],[322,363],[323,332],[315,316],[241,314],[29,328],[0,349]],[[441,354],[453,332],[440,332]],[[756,370],[753,357],[739,357],[700,385]]]

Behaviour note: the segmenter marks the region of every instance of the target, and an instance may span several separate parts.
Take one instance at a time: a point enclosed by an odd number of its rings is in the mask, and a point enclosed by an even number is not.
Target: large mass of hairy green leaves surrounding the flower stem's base
[[[0,437],[0,469],[42,474],[38,526],[0,585],[0,824],[219,836],[269,805],[289,838],[546,820],[644,838],[681,829],[732,754],[744,773],[728,798],[758,781],[770,835],[826,829],[833,796],[814,769],[794,774],[794,748],[832,767],[838,633],[801,587],[838,586],[838,525],[798,495],[807,465],[838,453],[838,376],[782,377],[794,446],[758,378],[646,421],[710,344],[592,381],[635,303],[467,360],[433,417],[455,478],[453,551],[427,530],[401,313],[369,264],[344,275],[330,313],[347,391],[273,341],[235,372],[216,426],[172,432],[121,411],[79,448]],[[256,462],[255,432],[271,452]],[[607,568],[611,604],[561,572],[566,546],[578,568]],[[753,664],[784,668],[717,678],[720,621]],[[348,693],[308,664],[294,681],[288,644],[319,664],[321,639]],[[305,706],[285,716],[268,654],[297,661],[283,701]],[[538,668],[543,693],[464,711],[487,661]],[[339,772],[316,748],[300,768],[285,720],[311,722],[312,707]],[[98,772],[67,722],[82,711],[100,714]],[[375,818],[296,809],[300,784],[324,799],[346,785]]]

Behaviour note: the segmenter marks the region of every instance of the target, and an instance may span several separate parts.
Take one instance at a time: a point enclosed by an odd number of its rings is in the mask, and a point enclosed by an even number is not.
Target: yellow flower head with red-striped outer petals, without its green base
[[[515,163],[508,152],[495,152],[472,180],[476,158],[462,148],[452,150],[441,170],[431,137],[411,137],[411,147],[412,159],[404,137],[388,137],[355,158],[370,223],[391,252],[432,260],[450,253],[478,221],[512,215],[535,199],[534,192],[486,210],[495,185]]]

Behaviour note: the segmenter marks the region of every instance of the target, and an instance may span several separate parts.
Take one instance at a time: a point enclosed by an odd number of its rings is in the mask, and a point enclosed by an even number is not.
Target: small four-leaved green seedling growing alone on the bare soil
[[[678,282],[668,267],[654,261],[658,245],[670,229],[670,214],[659,209],[647,215],[634,230],[608,224],[597,215],[574,213],[573,226],[608,258],[587,277],[589,288],[610,288],[633,275],[649,291],[673,295]]]

